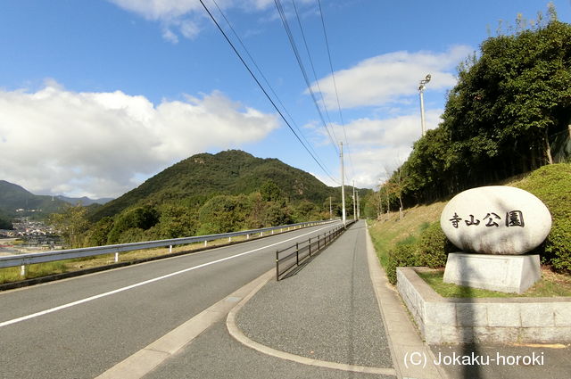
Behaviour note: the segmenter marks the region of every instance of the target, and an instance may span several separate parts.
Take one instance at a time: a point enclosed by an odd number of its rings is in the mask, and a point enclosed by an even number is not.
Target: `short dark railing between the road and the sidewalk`
[[[317,237],[310,238],[307,241],[295,243],[285,249],[277,250],[276,280],[279,281],[280,279],[291,275],[295,271],[294,268],[301,268],[305,264],[309,263],[311,258],[315,257],[319,251],[325,249],[329,243],[335,241],[335,239],[341,235],[347,227],[352,226],[354,223],[355,221],[349,221],[346,225],[335,227],[335,229],[330,230],[323,235],[318,235]]]

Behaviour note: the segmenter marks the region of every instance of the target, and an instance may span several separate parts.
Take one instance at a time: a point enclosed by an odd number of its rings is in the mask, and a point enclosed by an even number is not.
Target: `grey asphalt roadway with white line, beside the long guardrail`
[[[336,226],[1,292],[0,378],[100,375]]]

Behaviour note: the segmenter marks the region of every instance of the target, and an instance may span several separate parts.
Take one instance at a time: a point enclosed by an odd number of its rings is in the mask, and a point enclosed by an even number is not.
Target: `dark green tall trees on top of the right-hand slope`
[[[443,122],[386,183],[389,205],[399,194],[429,202],[553,162],[553,136],[571,120],[571,25],[553,8],[548,20],[525,28],[518,19],[512,34],[489,37],[459,65]]]

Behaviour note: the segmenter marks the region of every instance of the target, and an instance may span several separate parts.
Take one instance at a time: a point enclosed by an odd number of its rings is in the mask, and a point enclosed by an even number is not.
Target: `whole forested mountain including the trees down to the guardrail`
[[[370,190],[360,190],[360,195]],[[352,192],[345,191],[347,217]],[[332,213],[330,213],[330,210]],[[196,154],[103,206],[70,207],[52,224],[70,246],[226,233],[341,215],[341,189],[276,159]]]

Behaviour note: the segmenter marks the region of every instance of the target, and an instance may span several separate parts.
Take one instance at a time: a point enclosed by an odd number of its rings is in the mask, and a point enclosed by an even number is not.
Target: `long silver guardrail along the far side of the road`
[[[274,232],[279,229],[281,229],[281,232],[283,232],[285,228],[287,228],[287,230],[291,230],[301,227],[311,227],[314,225],[327,224],[335,221],[336,220],[310,221],[310,222],[301,222],[292,225],[284,225],[280,227],[264,227],[261,229],[244,230],[242,232],[224,233],[219,235],[198,235],[192,237],[173,238],[169,240],[148,241],[141,243],[121,243],[121,244],[111,244],[105,246],[85,247],[79,249],[43,251],[43,252],[32,252],[28,254],[9,255],[9,256],[0,257],[0,268],[12,268],[12,267],[21,266],[22,272],[25,273],[25,267],[31,264],[54,262],[57,260],[71,260],[76,258],[92,257],[95,255],[103,255],[103,254],[115,254],[115,262],[117,262],[119,261],[119,253],[125,251],[153,249],[153,248],[160,248],[167,246],[169,246],[170,251],[172,251],[172,246],[179,244],[204,242],[204,245],[206,245],[208,241],[219,240],[223,238],[228,238],[228,242],[231,242],[232,237],[245,235],[247,239],[250,239],[252,235],[263,236],[264,233],[271,233],[273,235]]]

